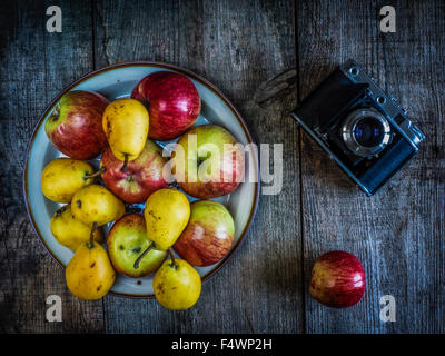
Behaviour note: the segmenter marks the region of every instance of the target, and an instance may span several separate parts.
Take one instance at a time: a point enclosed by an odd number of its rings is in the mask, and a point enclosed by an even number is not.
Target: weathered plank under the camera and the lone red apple
[[[407,107],[426,134],[418,156],[372,198],[303,135],[304,274],[333,249],[357,255],[367,293],[335,310],[306,293],[308,333],[443,333],[444,323],[444,19],[442,1],[390,1],[396,33],[378,29],[378,1],[303,1],[297,9],[303,99],[338,63],[355,58]],[[385,3],[386,4],[386,3]],[[397,320],[379,320],[393,295]]]

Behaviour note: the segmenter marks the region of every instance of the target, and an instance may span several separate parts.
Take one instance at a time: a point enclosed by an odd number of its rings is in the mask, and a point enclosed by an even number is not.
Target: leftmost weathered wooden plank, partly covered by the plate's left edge
[[[82,303],[65,269],[40,245],[28,220],[22,171],[39,116],[59,90],[92,69],[90,1],[59,1],[62,33],[46,31],[48,1],[0,9],[0,316],[2,333],[102,332],[102,303]],[[36,172],[40,175],[40,172]],[[62,299],[62,323],[46,320],[46,299]]]

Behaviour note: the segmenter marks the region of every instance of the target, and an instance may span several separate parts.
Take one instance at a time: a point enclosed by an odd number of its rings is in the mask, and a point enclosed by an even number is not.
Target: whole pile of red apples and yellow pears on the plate
[[[209,199],[233,192],[244,172],[239,152],[214,155],[200,149],[207,144],[220,152],[226,144],[239,149],[222,127],[191,128],[200,108],[194,83],[170,71],[145,77],[131,98],[109,102],[97,92],[75,90],[55,106],[46,132],[68,157],[44,167],[41,188],[48,199],[63,204],[50,227],[55,238],[75,251],[66,281],[76,297],[102,298],[116,273],[134,278],[155,273],[155,296],[164,307],[187,309],[198,300],[201,278],[192,266],[219,261],[235,235],[229,211]],[[191,135],[197,148],[188,145]],[[187,164],[181,177],[175,169],[169,177],[165,174],[169,160],[154,140],[179,136],[176,145]],[[86,160],[99,156],[100,168],[95,171]],[[212,168],[206,179],[196,175],[202,164]],[[237,179],[211,179],[215,172]],[[189,204],[172,187],[202,200]],[[144,215],[132,212],[134,204],[145,204]],[[101,227],[113,221],[105,249]],[[181,258],[175,258],[172,248]]]

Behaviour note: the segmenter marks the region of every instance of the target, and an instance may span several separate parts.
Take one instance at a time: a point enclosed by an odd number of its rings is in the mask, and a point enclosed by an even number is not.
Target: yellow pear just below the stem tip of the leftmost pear
[[[125,206],[107,188],[90,185],[76,191],[71,201],[71,211],[76,219],[98,227],[121,218]]]

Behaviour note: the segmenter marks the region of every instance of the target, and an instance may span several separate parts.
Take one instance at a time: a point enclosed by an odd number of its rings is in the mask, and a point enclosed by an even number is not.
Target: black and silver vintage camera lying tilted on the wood
[[[354,60],[330,73],[290,115],[368,196],[425,138]]]

